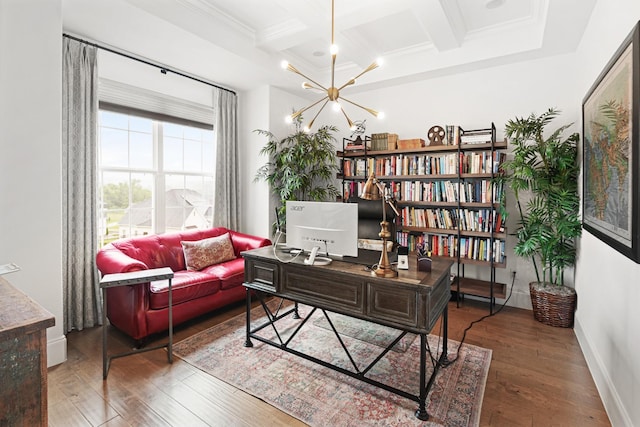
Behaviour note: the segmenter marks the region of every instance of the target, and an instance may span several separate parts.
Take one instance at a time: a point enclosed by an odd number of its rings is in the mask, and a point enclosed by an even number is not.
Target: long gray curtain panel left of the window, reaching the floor
[[[97,253],[97,48],[62,44],[64,330],[101,324]]]

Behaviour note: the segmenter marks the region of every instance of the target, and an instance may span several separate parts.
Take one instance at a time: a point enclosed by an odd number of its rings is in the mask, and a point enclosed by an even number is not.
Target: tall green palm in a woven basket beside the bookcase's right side
[[[507,122],[513,160],[503,168],[520,214],[514,252],[531,258],[536,272],[536,282],[529,284],[534,317],[551,326],[571,327],[577,296],[564,284],[564,271],[575,264],[575,240],[582,231],[579,135],[563,136],[571,124],[545,132],[558,114],[552,108]]]

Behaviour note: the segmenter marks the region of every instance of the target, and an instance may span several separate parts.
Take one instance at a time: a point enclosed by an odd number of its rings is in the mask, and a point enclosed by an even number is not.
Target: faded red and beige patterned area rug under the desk
[[[300,314],[309,315],[310,307],[301,306]],[[264,321],[261,307],[252,311],[252,326]],[[310,321],[291,340],[289,346],[312,354],[345,369],[353,370],[350,359],[335,335],[318,326],[322,313],[316,311]],[[332,314],[330,314],[332,317]],[[333,319],[333,318],[332,318]],[[279,323],[283,341],[301,320],[288,316]],[[344,319],[341,319],[341,323]],[[307,361],[278,348],[252,340],[244,347],[245,315],[199,332],[174,344],[177,357],[202,371],[237,387],[310,426],[477,426],[486,384],[491,350],[464,344],[458,360],[441,368],[427,399],[428,421],[418,420],[418,404],[347,375]],[[273,328],[260,335],[277,339]],[[380,353],[380,340],[369,343],[341,336],[353,359],[363,369]],[[395,331],[397,336],[397,331]],[[360,337],[362,338],[362,337]],[[393,340],[393,337],[389,337]],[[430,350],[438,353],[442,342],[429,335]],[[449,358],[459,343],[449,340]],[[394,387],[417,394],[419,388],[420,340],[414,339],[404,351],[390,351],[370,371],[369,376]],[[360,363],[362,361],[362,363]],[[430,375],[431,363],[428,363]]]

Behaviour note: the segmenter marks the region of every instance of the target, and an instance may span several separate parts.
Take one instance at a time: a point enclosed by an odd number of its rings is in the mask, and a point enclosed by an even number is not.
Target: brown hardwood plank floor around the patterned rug
[[[241,303],[176,327],[175,341],[243,311]],[[449,303],[449,338],[460,341],[487,312],[482,302]],[[101,328],[67,340],[68,361],[49,369],[50,426],[305,425],[180,359],[167,363],[164,349],[114,359],[103,381]],[[610,425],[572,329],[507,307],[475,324],[465,342],[493,350],[482,426]],[[120,352],[132,342],[110,328],[109,345]]]

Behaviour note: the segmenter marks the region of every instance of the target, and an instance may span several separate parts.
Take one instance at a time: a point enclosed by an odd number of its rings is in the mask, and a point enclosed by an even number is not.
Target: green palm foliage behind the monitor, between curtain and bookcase
[[[254,131],[268,138],[260,155],[269,156],[269,161],[258,169],[255,180],[266,181],[280,200],[276,208],[280,221],[286,218],[287,200],[335,201],[340,195],[333,184],[338,171],[333,133],[338,129],[325,125],[316,132],[305,132],[302,116],[293,124],[295,131],[283,139],[270,131]]]

